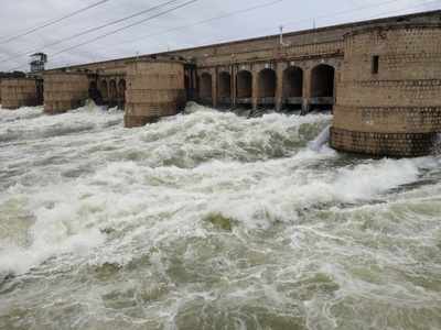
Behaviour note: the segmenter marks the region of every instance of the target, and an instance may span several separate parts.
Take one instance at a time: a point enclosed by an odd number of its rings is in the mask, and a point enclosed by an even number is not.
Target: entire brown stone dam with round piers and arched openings
[[[441,132],[441,11],[45,70],[1,80],[3,108],[49,114],[92,98],[125,125],[214,108],[333,109],[331,146],[374,156],[432,152]]]

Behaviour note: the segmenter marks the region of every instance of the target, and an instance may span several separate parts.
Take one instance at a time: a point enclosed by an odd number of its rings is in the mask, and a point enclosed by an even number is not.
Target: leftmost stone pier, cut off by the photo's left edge
[[[41,103],[39,80],[35,78],[7,78],[1,81],[3,109],[33,107]]]

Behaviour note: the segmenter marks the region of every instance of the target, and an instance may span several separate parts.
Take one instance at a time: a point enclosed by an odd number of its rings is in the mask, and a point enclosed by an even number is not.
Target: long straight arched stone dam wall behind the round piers
[[[126,74],[127,63],[169,57],[196,68],[185,73],[189,99],[213,107],[276,107],[330,109],[338,95],[347,33],[402,23],[439,23],[441,11],[369,20],[349,24],[269,35],[195,48],[180,50],[71,66],[100,75]],[[109,79],[106,78],[107,90]],[[106,91],[106,88],[103,88]],[[106,92],[104,92],[105,95]],[[110,101],[110,100],[109,100]]]

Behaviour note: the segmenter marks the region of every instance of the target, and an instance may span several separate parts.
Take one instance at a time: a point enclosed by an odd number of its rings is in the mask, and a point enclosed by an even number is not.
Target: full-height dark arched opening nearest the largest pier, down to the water
[[[335,69],[326,64],[318,65],[311,73],[311,106],[329,109],[334,105]]]

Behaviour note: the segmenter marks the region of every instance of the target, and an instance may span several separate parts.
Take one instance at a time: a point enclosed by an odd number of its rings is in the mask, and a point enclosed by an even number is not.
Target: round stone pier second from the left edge
[[[44,74],[44,112],[54,114],[76,109],[88,98],[86,73],[52,72]]]

